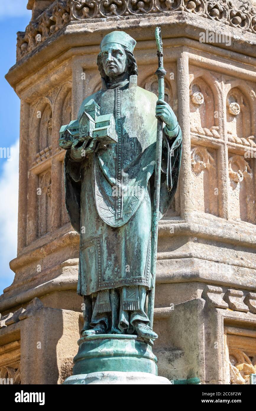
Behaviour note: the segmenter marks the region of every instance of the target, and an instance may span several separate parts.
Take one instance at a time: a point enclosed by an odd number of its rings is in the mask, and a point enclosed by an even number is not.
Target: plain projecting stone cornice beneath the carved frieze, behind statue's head
[[[254,65],[251,57],[253,60],[256,58],[256,36],[252,36],[248,32],[241,32],[237,28],[225,26],[222,23],[216,25],[214,21],[209,20],[207,29],[218,34],[225,33],[230,36],[231,45],[227,46],[224,43],[200,43],[198,39],[200,33],[205,31],[205,21],[203,18],[198,18],[192,13],[175,12],[169,16],[163,16],[162,14],[151,17],[148,16],[148,18],[144,18],[143,21],[141,21],[140,25],[138,25],[136,18],[130,20],[120,19],[118,29],[128,32],[138,40],[136,45],[136,52],[138,52],[141,45],[143,48],[146,46],[145,41],[149,41],[150,47],[152,47],[152,42],[155,48],[154,27],[156,25],[161,25],[165,46],[166,39],[176,39],[176,42],[179,40],[179,44],[186,44],[184,43],[185,39],[196,40],[198,48],[200,49],[203,48],[215,54],[219,54],[222,50],[228,49],[230,57],[234,60],[237,58],[239,60],[242,59],[243,55],[250,56],[249,59],[247,58],[248,63]],[[148,30],[145,30],[145,28]],[[59,56],[61,60],[65,60],[74,54],[85,55],[95,53],[97,55],[102,37],[114,29],[116,29],[116,21],[113,19],[108,19],[104,25],[99,25],[96,23],[96,20],[93,19],[88,23],[71,22],[53,36],[41,42],[37,48],[19,60],[16,65],[9,70],[6,79],[12,87],[16,89],[18,83],[24,81],[24,79],[28,79],[29,76],[38,72],[38,70]],[[183,42],[182,38],[184,39]],[[237,53],[240,53],[240,57]]]

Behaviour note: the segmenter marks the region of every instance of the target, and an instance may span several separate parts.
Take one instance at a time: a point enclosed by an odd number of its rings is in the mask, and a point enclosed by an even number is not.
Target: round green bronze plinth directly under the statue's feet
[[[138,372],[157,375],[152,348],[136,335],[99,334],[78,340],[73,375],[95,372]]]

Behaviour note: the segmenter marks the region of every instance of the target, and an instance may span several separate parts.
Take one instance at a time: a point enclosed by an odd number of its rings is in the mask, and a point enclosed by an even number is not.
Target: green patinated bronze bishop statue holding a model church
[[[182,134],[164,100],[137,86],[136,41],[114,31],[100,44],[102,88],[87,97],[78,119],[60,130],[66,206],[80,233],[77,292],[83,337],[135,334],[151,341],[146,296],[151,275],[151,225],[157,118],[164,123],[159,218],[175,194]]]

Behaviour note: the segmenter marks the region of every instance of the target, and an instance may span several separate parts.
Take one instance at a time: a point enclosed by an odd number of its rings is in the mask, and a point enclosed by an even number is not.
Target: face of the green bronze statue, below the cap
[[[108,77],[116,77],[127,71],[127,57],[121,44],[109,43],[103,46],[101,60]]]

